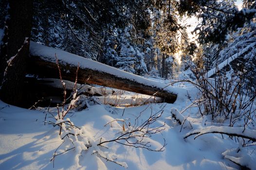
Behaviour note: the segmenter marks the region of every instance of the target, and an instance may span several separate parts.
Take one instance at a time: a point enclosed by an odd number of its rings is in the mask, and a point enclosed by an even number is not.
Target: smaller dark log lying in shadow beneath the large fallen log
[[[73,92],[74,83],[63,80],[66,84],[66,96],[70,96]],[[86,96],[103,96],[100,88],[90,85],[76,84],[80,94]],[[31,107],[35,103],[40,107],[56,106],[63,102],[63,86],[59,79],[37,79],[35,77],[26,77],[25,89],[29,96],[27,107]]]

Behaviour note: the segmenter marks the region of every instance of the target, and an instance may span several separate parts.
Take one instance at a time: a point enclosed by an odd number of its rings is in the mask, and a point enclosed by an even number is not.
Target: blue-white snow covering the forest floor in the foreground
[[[187,88],[192,97],[196,97],[197,90],[193,87]],[[128,98],[129,96],[127,96]],[[181,99],[181,98],[180,98]],[[221,154],[230,149],[238,148],[239,144],[228,136],[219,134],[207,134],[199,136],[194,140],[194,136],[183,139],[185,134],[190,132],[191,127],[184,124],[182,127],[171,116],[172,108],[179,111],[186,108],[190,102],[188,99],[176,101],[174,104],[150,103],[133,107],[114,107],[104,104],[89,103],[89,107],[82,111],[70,111],[66,118],[70,118],[73,123],[82,128],[84,134],[90,140],[92,147],[82,151],[77,156],[79,148],[55,157],[52,159],[57,147],[57,153],[62,153],[73,147],[67,139],[61,140],[59,127],[44,120],[55,121],[45,108],[37,110],[27,110],[15,106],[7,106],[0,101],[0,170],[49,170],[53,169],[79,169],[79,170],[124,170],[120,165],[106,161],[93,154],[95,151],[102,152],[122,165],[127,165],[128,170],[239,170],[239,166],[227,160]],[[140,121],[145,121],[151,113],[161,112],[160,119],[155,122],[155,126],[165,124],[162,134],[155,134],[150,138],[152,149],[161,148],[164,139],[167,143],[165,151],[150,152],[142,148],[124,146],[115,142],[108,143],[105,147],[96,147],[94,144],[102,137],[111,140],[120,136],[123,131],[123,123],[113,121],[114,119],[127,120],[134,123],[136,116],[141,114]],[[50,108],[54,116],[56,108]],[[46,113],[48,113],[46,115]],[[210,117],[204,119],[198,115],[196,107],[192,107],[183,112],[193,123],[194,128],[201,129],[210,125],[225,125],[211,123]],[[207,121],[205,121],[207,119]],[[112,123],[106,125],[108,122]],[[206,123],[205,123],[206,122]],[[106,126],[104,126],[106,125]],[[76,145],[77,146],[77,145]],[[80,146],[80,145],[78,145]],[[253,148],[254,147],[254,148]],[[255,146],[248,147],[252,161],[256,160]]]

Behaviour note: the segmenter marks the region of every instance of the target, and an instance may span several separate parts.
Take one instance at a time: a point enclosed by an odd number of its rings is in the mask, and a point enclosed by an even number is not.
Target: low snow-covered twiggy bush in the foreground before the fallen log
[[[70,105],[68,108],[70,108]],[[142,113],[142,112],[141,112]],[[118,143],[127,147],[142,148],[148,151],[162,152],[166,146],[165,139],[164,144],[161,147],[154,148],[151,145],[151,140],[149,139],[154,134],[159,134],[165,130],[165,124],[160,126],[155,126],[154,123],[160,119],[163,114],[163,110],[156,113],[151,113],[147,119],[142,119],[141,114],[133,121],[133,124],[129,119],[114,119],[107,124],[110,125],[113,122],[121,122],[120,131],[111,139],[105,139],[104,137],[91,136],[90,130],[86,129],[85,126],[77,127],[70,120],[70,118],[59,119],[59,115],[55,116],[54,126],[60,127],[60,137],[63,142],[55,150],[55,153],[51,161],[55,161],[55,157],[66,153],[68,151],[74,152],[74,161],[79,166],[80,156],[83,152],[95,154],[97,157],[105,159],[106,161],[113,162],[122,167],[128,168],[125,162],[119,162],[116,160],[116,154],[111,151],[106,151],[109,149],[109,143]],[[65,114],[66,115],[66,114]],[[58,151],[61,145],[65,143],[65,150]]]

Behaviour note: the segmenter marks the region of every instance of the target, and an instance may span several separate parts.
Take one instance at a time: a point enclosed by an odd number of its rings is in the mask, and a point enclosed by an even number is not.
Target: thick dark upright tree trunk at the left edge
[[[0,52],[0,99],[9,104],[23,106],[26,102],[23,84],[32,29],[33,0],[9,0],[9,6],[5,45]]]

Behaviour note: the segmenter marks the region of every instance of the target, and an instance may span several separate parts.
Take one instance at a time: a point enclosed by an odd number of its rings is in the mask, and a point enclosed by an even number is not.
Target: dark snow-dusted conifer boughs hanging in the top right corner
[[[243,8],[240,11],[235,0],[181,0],[180,14],[197,15],[200,23],[194,30],[201,44],[225,42],[229,31],[243,27],[255,16],[255,9]]]

